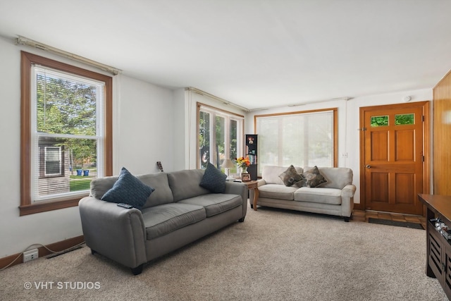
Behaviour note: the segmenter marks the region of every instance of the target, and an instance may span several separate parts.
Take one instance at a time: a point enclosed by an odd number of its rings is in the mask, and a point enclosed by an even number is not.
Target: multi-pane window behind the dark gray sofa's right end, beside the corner
[[[242,156],[244,116],[199,103],[197,116],[199,168],[206,168],[208,162],[221,168],[224,159]],[[236,173],[236,168],[230,168],[230,173]]]

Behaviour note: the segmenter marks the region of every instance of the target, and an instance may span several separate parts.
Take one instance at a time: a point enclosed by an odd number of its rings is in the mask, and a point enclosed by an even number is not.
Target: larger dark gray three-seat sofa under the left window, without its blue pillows
[[[101,200],[118,176],[92,180],[89,197],[79,202],[86,245],[137,275],[144,263],[244,221],[246,185],[227,182],[224,193],[211,193],[199,186],[203,175],[194,169],[136,176],[155,189],[141,210]]]

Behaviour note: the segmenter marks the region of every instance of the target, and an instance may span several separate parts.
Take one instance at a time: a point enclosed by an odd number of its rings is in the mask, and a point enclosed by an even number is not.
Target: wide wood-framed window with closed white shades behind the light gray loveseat
[[[337,109],[255,116],[261,166],[336,166]]]

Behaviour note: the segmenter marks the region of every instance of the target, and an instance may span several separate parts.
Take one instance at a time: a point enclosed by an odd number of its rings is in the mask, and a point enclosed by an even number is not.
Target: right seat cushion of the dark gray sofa
[[[206,217],[220,214],[242,204],[241,195],[229,195],[224,193],[210,193],[199,195],[190,199],[183,199],[179,203],[199,205],[205,208]]]

